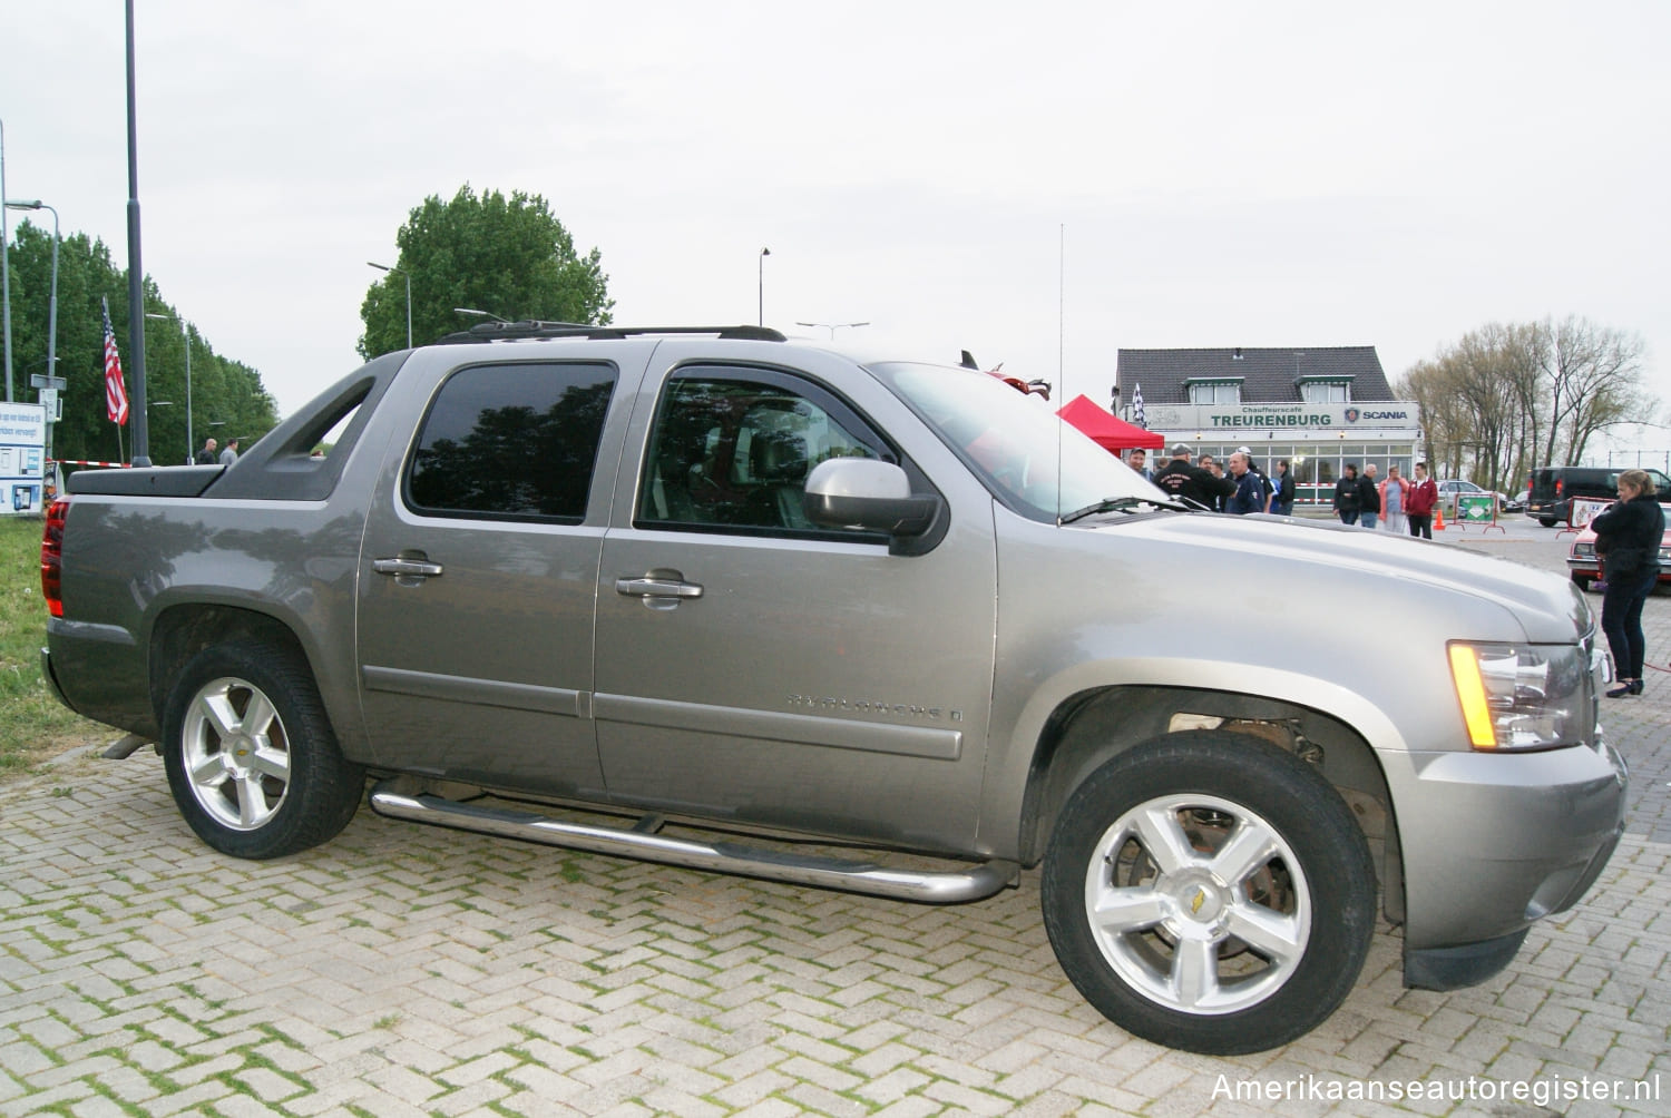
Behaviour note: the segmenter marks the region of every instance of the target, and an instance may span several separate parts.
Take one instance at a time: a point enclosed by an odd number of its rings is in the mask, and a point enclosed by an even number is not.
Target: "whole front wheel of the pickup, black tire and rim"
[[[1253,737],[1170,734],[1068,797],[1043,907],[1063,971],[1115,1024],[1230,1056],[1285,1044],[1345,999],[1375,869],[1312,765]]]

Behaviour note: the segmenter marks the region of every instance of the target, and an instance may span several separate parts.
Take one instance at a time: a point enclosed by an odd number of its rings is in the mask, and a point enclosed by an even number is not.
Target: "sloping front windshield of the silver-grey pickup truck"
[[[871,369],[934,428],[993,496],[1029,520],[1056,523],[1121,496],[1170,501],[1111,451],[996,376],[912,363]]]

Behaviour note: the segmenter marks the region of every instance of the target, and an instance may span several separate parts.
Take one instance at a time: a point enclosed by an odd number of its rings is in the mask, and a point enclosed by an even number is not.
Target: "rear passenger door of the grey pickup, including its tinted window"
[[[600,460],[620,369],[493,356],[448,371],[388,451],[361,553],[366,732],[399,769],[597,799]]]

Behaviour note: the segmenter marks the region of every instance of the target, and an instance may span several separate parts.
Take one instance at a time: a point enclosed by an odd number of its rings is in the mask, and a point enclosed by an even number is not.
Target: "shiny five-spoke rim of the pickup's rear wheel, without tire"
[[[180,752],[192,797],[232,831],[257,831],[291,790],[291,742],[272,700],[254,684],[219,677],[185,709]]]

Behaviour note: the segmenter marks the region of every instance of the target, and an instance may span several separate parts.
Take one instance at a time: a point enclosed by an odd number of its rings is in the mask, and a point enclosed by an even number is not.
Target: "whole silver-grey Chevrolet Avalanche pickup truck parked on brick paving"
[[[314,448],[329,443],[324,456]],[[1618,842],[1564,578],[1171,503],[969,369],[490,324],[236,465],[75,475],[45,675],[239,857],[384,816],[926,902],[1041,867],[1125,1029],[1247,1053],[1514,958]]]

